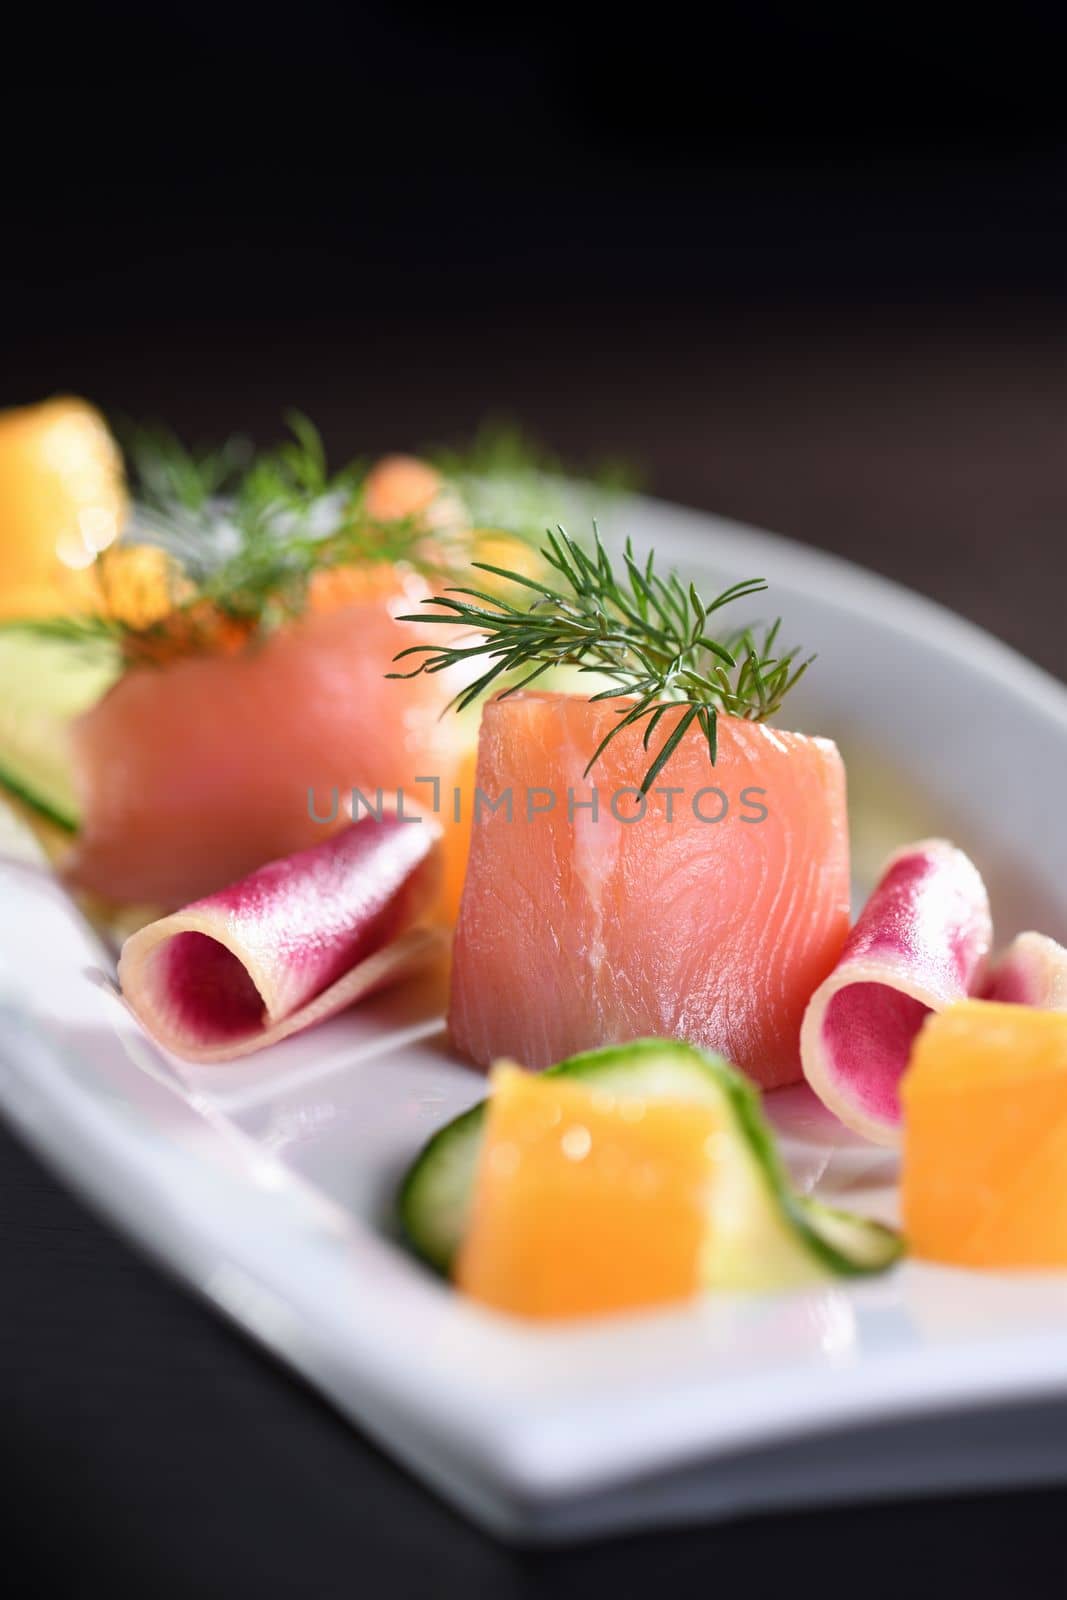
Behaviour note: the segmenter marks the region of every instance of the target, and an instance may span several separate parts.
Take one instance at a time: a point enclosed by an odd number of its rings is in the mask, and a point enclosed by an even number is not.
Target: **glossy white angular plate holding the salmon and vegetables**
[[[790,725],[849,762],[859,886],[947,834],[1001,941],[1067,938],[1067,691],[928,602],[787,541],[649,501],[608,528],[702,584],[761,574],[819,666]],[[14,827],[0,835],[0,1107],[126,1234],[499,1534],[563,1539],[901,1488],[1067,1478],[1067,1275],[904,1264],[817,1293],[531,1328],[398,1248],[395,1181],[478,1099],[440,984],[232,1067],[166,1058]],[[891,1214],[893,1163],[803,1090],[771,1096],[805,1187]]]

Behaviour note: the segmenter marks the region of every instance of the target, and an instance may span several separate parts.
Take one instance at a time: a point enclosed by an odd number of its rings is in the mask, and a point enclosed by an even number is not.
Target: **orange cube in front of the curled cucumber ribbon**
[[[587,1317],[701,1286],[712,1107],[493,1072],[456,1283],[520,1317]]]

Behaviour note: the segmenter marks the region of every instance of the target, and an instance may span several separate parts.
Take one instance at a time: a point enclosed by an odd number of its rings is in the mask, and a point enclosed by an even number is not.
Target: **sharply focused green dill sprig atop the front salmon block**
[[[640,792],[648,794],[693,725],[704,734],[715,765],[718,712],[763,722],[779,709],[814,659],[798,661],[795,650],[774,653],[781,619],[758,642],[752,627],[725,637],[710,632],[709,619],[723,606],[766,589],[761,578],[731,584],[715,598],[702,600],[696,587],[683,584],[677,573],[662,578],[651,552],[638,562],[629,541],[622,557],[624,573],[619,574],[595,525],[592,552],[560,526],[547,534],[542,555],[560,574],[560,587],[488,562],[472,563],[533,590],[536,598],[526,605],[512,605],[478,589],[446,589],[427,602],[438,611],[402,618],[405,622],[462,627],[466,640],[446,646],[411,645],[395,659],[421,654],[419,664],[411,672],[389,675],[402,678],[443,672],[478,656],[488,658],[491,666],[453,699],[458,710],[506,675],[517,674],[518,682],[509,683],[504,694],[515,694],[550,667],[563,664],[606,675],[613,686],[592,694],[590,701],[629,696],[632,704],[616,707],[619,720],[590,755],[585,774],[624,728],[645,723],[641,742],[648,750],[664,717],[678,710],[641,779]],[[480,637],[470,642],[474,634]]]

